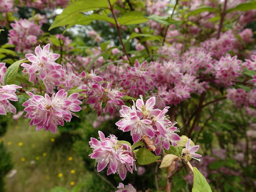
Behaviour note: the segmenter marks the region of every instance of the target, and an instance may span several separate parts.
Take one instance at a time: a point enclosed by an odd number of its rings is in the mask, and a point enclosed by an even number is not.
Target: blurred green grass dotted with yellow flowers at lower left
[[[37,132],[28,123],[27,119],[12,122],[0,138],[12,153],[13,169],[17,170],[11,178],[6,177],[6,191],[50,192],[56,186],[71,189],[82,183],[86,172],[82,159],[73,150],[70,135]]]

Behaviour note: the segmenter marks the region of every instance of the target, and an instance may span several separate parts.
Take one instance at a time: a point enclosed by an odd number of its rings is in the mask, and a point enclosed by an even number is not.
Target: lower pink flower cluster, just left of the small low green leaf
[[[96,138],[91,138],[89,142],[90,147],[93,149],[92,154],[89,156],[98,162],[98,172],[108,166],[108,175],[117,172],[120,178],[124,180],[127,170],[132,173],[134,169],[132,148],[128,144],[120,143],[114,135],[105,138],[101,131],[98,131],[98,133],[100,141]]]

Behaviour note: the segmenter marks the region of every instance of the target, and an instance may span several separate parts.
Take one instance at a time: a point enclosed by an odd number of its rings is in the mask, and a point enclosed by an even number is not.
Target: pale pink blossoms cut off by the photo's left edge
[[[7,112],[16,114],[16,108],[10,101],[18,101],[18,97],[15,94],[18,88],[22,87],[18,85],[0,86],[0,115],[6,115]]]

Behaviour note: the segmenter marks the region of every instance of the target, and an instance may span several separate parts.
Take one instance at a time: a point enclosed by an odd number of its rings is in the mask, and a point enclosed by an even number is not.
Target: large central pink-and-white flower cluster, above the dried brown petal
[[[132,108],[123,105],[120,110],[123,119],[116,122],[116,125],[123,132],[130,131],[134,143],[138,142],[142,136],[148,136],[154,141],[158,155],[163,147],[168,150],[170,143],[176,146],[180,136],[175,133],[179,131],[177,127],[174,127],[176,122],[172,123],[168,120],[168,116],[165,116],[169,107],[165,107],[163,110],[153,109],[155,102],[156,98],[151,97],[144,104],[141,95]]]

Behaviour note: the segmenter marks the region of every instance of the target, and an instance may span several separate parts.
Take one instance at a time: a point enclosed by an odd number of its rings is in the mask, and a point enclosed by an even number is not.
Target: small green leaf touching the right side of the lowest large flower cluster
[[[152,152],[150,152],[150,150],[143,147],[136,151],[136,157],[138,160],[138,164],[140,165],[148,165],[154,163],[160,158],[160,156],[155,156],[154,154],[152,154]]]

